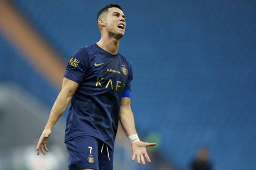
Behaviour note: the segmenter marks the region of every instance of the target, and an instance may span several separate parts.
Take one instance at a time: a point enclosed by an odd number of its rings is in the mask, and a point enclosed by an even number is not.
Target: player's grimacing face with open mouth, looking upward
[[[109,8],[109,12],[105,18],[106,20],[106,30],[108,33],[117,35],[121,38],[124,35],[126,23],[123,11],[119,8]]]

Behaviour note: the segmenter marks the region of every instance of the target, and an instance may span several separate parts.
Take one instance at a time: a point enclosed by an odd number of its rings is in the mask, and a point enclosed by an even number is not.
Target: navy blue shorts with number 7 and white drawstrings
[[[113,169],[113,150],[103,141],[92,136],[79,136],[65,143],[69,155],[69,170],[83,168]]]

